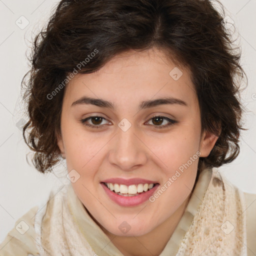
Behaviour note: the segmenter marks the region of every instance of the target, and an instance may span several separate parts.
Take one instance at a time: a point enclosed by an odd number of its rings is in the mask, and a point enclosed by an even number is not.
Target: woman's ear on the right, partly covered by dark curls
[[[220,134],[220,133],[219,133]],[[201,152],[200,157],[207,157],[215,145],[219,136],[214,135],[209,131],[203,131],[200,141],[200,149]]]

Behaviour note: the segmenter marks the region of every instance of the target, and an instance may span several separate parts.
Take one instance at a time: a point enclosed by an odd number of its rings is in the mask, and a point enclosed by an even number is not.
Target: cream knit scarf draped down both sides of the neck
[[[90,245],[93,243],[86,240],[70,212],[66,203],[67,191],[66,185],[56,195],[53,196],[51,193],[47,205],[38,210],[36,214],[36,246],[40,255],[97,256]],[[191,198],[197,197],[195,191]],[[195,212],[190,212],[189,209],[185,210],[186,215],[190,214],[193,217],[184,232],[185,234],[180,239],[175,255],[246,256],[245,207],[242,192],[221,177],[216,168],[213,168],[199,207]],[[183,222],[181,221],[181,223]],[[88,229],[86,226],[86,230],[90,232],[91,240],[105,238],[103,231],[102,234],[98,232],[98,229],[94,232],[91,230],[91,226],[88,226]],[[100,249],[97,248],[95,251],[100,251]],[[118,253],[117,249],[116,251],[117,254],[103,249],[99,256],[122,255],[122,253]],[[174,254],[166,253],[166,250],[160,254],[160,256],[165,255]]]

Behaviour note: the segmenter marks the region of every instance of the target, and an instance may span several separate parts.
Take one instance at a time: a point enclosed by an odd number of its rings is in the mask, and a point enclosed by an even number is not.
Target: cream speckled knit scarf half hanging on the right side
[[[176,256],[247,255],[243,193],[213,168],[212,177]]]

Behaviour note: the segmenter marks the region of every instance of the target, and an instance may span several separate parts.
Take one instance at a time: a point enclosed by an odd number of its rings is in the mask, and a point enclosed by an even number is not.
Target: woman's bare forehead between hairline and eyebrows
[[[114,105],[166,96],[185,98],[188,104],[196,99],[190,71],[177,67],[157,48],[129,50],[93,73],[76,74],[67,85],[65,97],[72,103],[82,95],[107,98]]]

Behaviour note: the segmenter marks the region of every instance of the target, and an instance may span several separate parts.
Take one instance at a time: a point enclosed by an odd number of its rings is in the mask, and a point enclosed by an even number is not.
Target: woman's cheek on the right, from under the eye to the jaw
[[[157,155],[160,155],[159,158],[164,163],[161,184],[164,192],[158,204],[159,208],[165,209],[163,214],[168,215],[179,207],[193,188],[200,155],[198,134],[183,130],[159,147]]]

